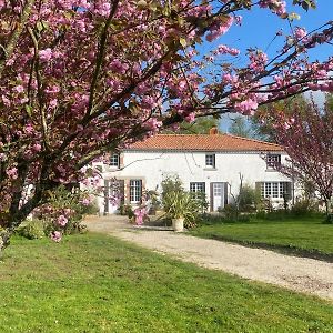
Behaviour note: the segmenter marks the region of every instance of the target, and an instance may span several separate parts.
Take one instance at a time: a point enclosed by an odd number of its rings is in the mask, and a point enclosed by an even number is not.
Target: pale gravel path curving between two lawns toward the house
[[[91,231],[115,235],[160,253],[239,276],[333,300],[333,264],[268,250],[199,239],[171,231],[139,229],[123,216],[87,221]]]

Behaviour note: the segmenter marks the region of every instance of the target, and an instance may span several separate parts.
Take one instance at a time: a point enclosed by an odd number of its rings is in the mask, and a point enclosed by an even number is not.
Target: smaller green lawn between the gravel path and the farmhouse
[[[333,225],[322,224],[320,218],[203,224],[192,230],[191,234],[264,248],[281,248],[333,261]]]

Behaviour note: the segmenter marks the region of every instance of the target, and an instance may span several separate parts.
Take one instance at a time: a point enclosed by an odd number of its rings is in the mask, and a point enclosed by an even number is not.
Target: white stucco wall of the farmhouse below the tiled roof
[[[205,155],[212,152],[123,152],[123,169],[115,171],[104,167],[104,178],[142,179],[147,190],[161,191],[163,176],[178,174],[185,190],[190,190],[190,182],[205,182],[208,202],[210,202],[210,183],[228,182],[231,192],[239,193],[240,173],[243,184],[255,185],[255,182],[290,181],[281,173],[268,170],[265,161],[259,152],[213,152],[215,153],[215,169],[205,167]],[[285,160],[282,154],[282,163]],[[229,202],[231,201],[229,195]],[[279,201],[279,200],[275,200]],[[283,202],[283,200],[280,200]]]

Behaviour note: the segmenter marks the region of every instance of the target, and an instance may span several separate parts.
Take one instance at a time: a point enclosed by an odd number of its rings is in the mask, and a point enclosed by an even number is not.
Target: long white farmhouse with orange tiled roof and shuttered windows
[[[105,194],[117,179],[122,203],[139,205],[143,191],[161,191],[167,175],[179,175],[184,189],[204,192],[209,211],[216,211],[232,202],[243,184],[260,189],[263,198],[274,205],[283,203],[283,195],[294,196],[292,181],[273,167],[284,162],[283,149],[273,143],[220,134],[158,134],[114,153],[110,164],[103,165]],[[113,213],[117,206],[100,200],[101,213]]]

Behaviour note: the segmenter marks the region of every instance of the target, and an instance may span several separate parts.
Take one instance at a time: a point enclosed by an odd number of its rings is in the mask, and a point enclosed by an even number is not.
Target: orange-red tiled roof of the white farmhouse
[[[157,134],[131,144],[127,150],[142,151],[279,151],[279,144],[231,134]]]

